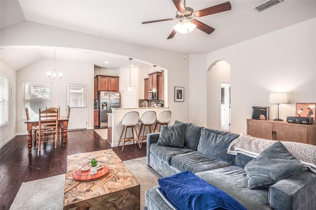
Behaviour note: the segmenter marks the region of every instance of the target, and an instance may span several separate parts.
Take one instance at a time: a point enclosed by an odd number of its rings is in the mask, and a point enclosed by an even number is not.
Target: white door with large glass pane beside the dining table
[[[67,84],[68,130],[87,128],[87,85]]]

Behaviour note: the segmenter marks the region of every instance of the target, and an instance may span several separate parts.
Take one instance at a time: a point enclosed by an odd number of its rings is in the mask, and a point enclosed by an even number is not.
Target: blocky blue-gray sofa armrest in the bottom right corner
[[[316,207],[316,174],[310,171],[279,180],[269,187],[273,210],[311,210]]]

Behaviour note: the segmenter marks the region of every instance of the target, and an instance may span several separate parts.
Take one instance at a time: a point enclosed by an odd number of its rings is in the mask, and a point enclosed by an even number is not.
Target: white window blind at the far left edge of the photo
[[[9,79],[0,75],[0,126],[9,121]]]

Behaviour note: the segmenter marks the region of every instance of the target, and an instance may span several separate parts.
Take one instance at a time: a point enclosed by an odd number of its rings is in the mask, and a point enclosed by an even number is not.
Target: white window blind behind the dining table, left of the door
[[[23,82],[23,119],[26,119],[25,108],[29,110],[30,118],[39,114],[40,110],[50,107],[50,83]]]

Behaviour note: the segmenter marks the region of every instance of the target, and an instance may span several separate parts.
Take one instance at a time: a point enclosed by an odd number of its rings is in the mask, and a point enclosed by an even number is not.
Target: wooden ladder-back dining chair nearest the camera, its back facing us
[[[58,110],[39,111],[39,130],[36,132],[36,147],[40,151],[41,143],[54,142],[58,145]]]

